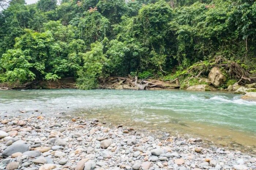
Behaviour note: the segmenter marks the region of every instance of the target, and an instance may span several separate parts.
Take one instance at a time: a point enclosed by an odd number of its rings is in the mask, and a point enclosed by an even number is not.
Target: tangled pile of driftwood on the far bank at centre
[[[159,80],[138,80],[138,77],[134,78],[129,75],[128,78],[125,77],[109,77],[104,80],[100,80],[100,88],[106,89],[132,89],[132,90],[150,90],[155,88],[180,88],[178,80],[176,84],[171,82],[163,82]]]

